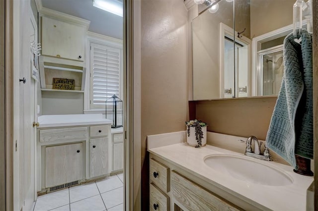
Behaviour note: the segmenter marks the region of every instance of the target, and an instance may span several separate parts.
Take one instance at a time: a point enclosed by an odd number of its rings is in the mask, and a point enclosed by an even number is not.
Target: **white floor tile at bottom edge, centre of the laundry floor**
[[[104,211],[105,205],[100,195],[71,204],[71,211]]]

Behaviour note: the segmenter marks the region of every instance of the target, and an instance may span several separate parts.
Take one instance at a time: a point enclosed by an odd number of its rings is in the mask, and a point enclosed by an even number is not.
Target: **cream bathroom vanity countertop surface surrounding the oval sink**
[[[306,210],[306,191],[314,178],[294,173],[291,166],[252,158],[256,162],[282,170],[293,180],[293,183],[287,186],[267,186],[236,179],[204,163],[204,158],[213,154],[242,155],[229,150],[209,145],[194,148],[186,143],[178,143],[148,149],[148,151],[239,198],[248,199],[248,202],[254,206],[261,205],[276,211]]]

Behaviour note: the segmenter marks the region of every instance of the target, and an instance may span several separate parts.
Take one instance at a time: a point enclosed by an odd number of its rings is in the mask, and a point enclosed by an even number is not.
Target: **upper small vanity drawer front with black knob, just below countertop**
[[[169,168],[154,158],[150,159],[150,180],[162,191],[169,192]]]

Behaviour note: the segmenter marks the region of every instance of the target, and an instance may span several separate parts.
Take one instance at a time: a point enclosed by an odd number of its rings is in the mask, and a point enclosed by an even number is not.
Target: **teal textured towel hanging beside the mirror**
[[[312,35],[303,30],[301,44],[284,40],[284,76],[266,136],[266,146],[298,169],[295,154],[313,158]]]

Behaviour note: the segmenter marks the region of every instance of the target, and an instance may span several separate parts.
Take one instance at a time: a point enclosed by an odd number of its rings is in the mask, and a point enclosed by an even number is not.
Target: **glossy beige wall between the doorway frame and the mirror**
[[[142,0],[141,34],[142,206],[149,206],[146,137],[184,130],[187,119],[188,38],[183,0]]]

